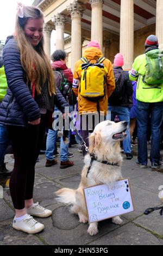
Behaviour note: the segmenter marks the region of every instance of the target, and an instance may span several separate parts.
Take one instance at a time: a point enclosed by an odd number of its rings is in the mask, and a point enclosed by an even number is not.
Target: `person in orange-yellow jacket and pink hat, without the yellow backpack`
[[[90,63],[96,63],[98,59],[103,57],[103,54],[100,50],[99,43],[97,41],[89,42],[83,54],[83,57],[89,60]],[[88,147],[89,146],[89,141],[88,141],[89,130],[93,130],[95,128],[95,126],[97,125],[97,120],[98,120],[98,123],[99,121],[104,120],[106,113],[108,111],[108,97],[115,90],[115,80],[114,80],[114,72],[112,69],[112,63],[110,62],[109,59],[104,58],[102,64],[104,64],[104,67],[107,70],[106,81],[104,84],[105,95],[101,99],[97,99],[93,101],[90,99],[86,99],[86,97],[83,97],[80,95],[81,71],[79,70],[79,68],[80,66],[82,66],[82,64],[83,64],[83,61],[79,59],[74,66],[74,76],[73,76],[73,85],[72,85],[73,92],[76,94],[76,96],[78,96],[78,109],[80,114],[81,128],[82,128],[82,119],[84,120],[86,114],[89,115],[89,117],[91,116],[91,114],[92,116],[93,115],[98,116],[97,119],[95,117],[96,121],[92,119],[93,121],[92,127],[88,126],[89,122],[87,121],[85,129],[81,129],[82,137]],[[86,151],[85,151],[85,148],[83,148],[83,155],[85,154],[86,154]]]

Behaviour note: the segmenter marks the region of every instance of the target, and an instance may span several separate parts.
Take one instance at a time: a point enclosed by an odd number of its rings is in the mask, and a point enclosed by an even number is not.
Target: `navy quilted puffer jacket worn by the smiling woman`
[[[11,36],[4,46],[3,60],[8,91],[0,105],[0,124],[27,126],[28,121],[40,118],[40,108],[27,87],[20,51],[16,40]],[[55,105],[64,113],[68,104],[59,90],[57,90],[55,101]]]

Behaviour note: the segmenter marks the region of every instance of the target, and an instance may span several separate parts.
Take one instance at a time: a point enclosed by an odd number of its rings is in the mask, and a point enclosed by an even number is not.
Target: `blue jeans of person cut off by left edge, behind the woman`
[[[0,124],[0,166],[4,161],[5,150],[10,144],[7,126]]]

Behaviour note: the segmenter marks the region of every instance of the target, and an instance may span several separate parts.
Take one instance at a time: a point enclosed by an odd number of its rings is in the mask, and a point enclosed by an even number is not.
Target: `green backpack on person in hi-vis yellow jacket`
[[[163,51],[156,49],[146,53],[146,74],[143,82],[146,84],[163,83]]]

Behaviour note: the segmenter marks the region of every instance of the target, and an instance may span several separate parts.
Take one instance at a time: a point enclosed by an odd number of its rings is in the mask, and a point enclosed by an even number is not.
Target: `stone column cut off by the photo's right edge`
[[[156,36],[158,37],[159,48],[161,48],[161,49],[163,48],[162,12],[163,12],[163,1],[157,0],[156,1]]]

